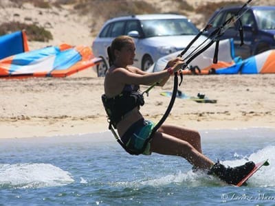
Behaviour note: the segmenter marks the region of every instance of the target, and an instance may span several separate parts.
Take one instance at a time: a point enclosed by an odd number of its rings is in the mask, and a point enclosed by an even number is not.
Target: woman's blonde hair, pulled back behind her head
[[[129,45],[131,43],[133,43],[133,38],[131,38],[131,36],[122,35],[113,39],[111,46],[107,48],[110,67],[111,65],[113,65],[113,62],[115,61],[115,49],[120,51],[122,47],[125,47],[126,45]]]

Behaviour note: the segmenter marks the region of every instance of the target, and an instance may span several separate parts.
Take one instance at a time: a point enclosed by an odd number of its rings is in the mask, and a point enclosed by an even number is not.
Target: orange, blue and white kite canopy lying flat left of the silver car
[[[90,47],[62,44],[1,59],[0,78],[65,77],[100,61],[101,58],[95,58]]]

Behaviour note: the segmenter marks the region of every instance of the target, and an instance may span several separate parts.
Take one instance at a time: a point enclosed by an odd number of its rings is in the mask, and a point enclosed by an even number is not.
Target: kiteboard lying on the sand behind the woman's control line
[[[172,92],[171,91],[163,91],[160,93],[160,95],[163,95],[165,97],[171,97]],[[205,96],[205,94],[198,93],[197,97],[186,95],[185,93],[182,93],[181,91],[177,91],[177,98],[183,99],[183,100],[192,100],[197,103],[217,103],[217,100],[210,100]]]

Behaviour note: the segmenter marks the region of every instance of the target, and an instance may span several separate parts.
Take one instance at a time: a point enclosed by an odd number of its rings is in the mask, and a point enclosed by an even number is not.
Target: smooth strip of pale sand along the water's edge
[[[105,133],[108,132],[108,124],[96,124],[92,126],[89,123],[81,124],[79,122],[71,122],[72,124],[75,124],[76,126],[60,126],[57,125],[51,125],[51,126],[32,126],[25,123],[19,123],[14,124],[12,126],[10,125],[1,125],[0,130],[2,131],[0,139],[21,139],[21,138],[41,138],[41,137],[65,137],[68,135],[85,135],[85,134],[94,134],[94,133]],[[170,122],[167,121],[164,124],[176,124],[176,122]],[[256,126],[256,124],[252,124],[255,122],[245,122],[241,123],[241,126],[239,124],[240,122],[230,122],[226,121],[223,122],[225,126],[219,126],[217,127],[217,124],[220,124],[219,122],[208,122],[208,124],[197,123],[197,122],[188,122],[188,124],[185,125],[186,128],[192,128],[195,130],[241,130],[241,129],[252,129],[252,128],[259,128],[259,129],[272,129],[275,130],[275,127],[272,126],[270,123],[264,123],[261,126]],[[22,124],[25,124],[22,126]],[[79,124],[79,125],[77,125]],[[111,133],[111,131],[110,131]]]

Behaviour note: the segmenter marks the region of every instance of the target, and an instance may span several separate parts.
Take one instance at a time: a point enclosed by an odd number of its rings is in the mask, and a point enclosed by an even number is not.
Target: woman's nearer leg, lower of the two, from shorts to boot
[[[188,141],[157,131],[151,140],[151,152],[184,157],[195,168],[210,169],[214,162],[194,148]]]

